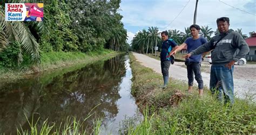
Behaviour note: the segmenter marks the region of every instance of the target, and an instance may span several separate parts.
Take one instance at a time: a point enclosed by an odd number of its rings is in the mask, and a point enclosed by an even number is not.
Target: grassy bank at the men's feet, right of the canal
[[[188,95],[187,83],[174,79],[170,79],[169,87],[162,90],[159,88],[163,83],[160,74],[140,65],[132,55],[130,63],[132,95],[144,112],[144,121],[137,126],[126,126],[126,133],[256,133],[254,102],[235,99],[233,107],[228,107],[206,89],[201,98],[197,96],[196,87],[194,93]]]

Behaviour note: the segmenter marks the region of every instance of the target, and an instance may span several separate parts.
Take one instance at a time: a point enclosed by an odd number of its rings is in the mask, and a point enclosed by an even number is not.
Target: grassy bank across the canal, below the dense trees
[[[7,69],[0,67],[0,82],[10,82],[16,79],[29,78],[45,72],[58,72],[84,66],[100,59],[109,59],[118,53],[107,49],[97,52],[42,52],[41,63],[37,65],[25,65],[21,68]]]

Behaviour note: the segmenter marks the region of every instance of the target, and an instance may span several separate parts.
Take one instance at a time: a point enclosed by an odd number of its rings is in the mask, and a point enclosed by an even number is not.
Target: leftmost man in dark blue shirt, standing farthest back
[[[163,89],[165,89],[169,82],[169,68],[172,60],[172,58],[170,57],[171,56],[170,52],[173,49],[177,49],[178,45],[177,43],[174,42],[173,39],[168,38],[167,31],[161,32],[161,39],[163,40],[163,42],[161,47],[160,60],[161,60],[161,72],[164,78]]]

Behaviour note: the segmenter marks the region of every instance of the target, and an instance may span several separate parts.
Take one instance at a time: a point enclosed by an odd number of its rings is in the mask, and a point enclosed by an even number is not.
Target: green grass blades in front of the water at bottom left
[[[98,106],[98,105],[97,105]],[[94,110],[97,106],[95,106],[92,110]],[[16,127],[17,134],[100,134],[100,126],[102,124],[102,120],[99,118],[96,118],[95,121],[93,121],[93,128],[92,132],[86,130],[86,127],[84,127],[84,122],[92,117],[93,113],[89,112],[87,114],[85,119],[77,119],[76,117],[68,117],[66,118],[65,122],[60,122],[59,125],[56,123],[49,123],[48,119],[44,120],[43,124],[39,124],[40,118],[36,120],[36,122],[33,119],[32,114],[32,120],[30,122],[29,118],[26,117],[27,122],[29,123],[29,129],[24,130],[21,127]]]

